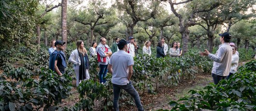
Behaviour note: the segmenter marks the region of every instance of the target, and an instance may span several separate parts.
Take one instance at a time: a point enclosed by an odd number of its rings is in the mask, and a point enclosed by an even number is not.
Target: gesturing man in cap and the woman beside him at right
[[[219,49],[216,54],[210,54],[205,49],[204,52],[199,52],[199,55],[207,56],[213,60],[212,77],[213,83],[218,84],[223,79],[228,79],[232,74],[237,71],[239,62],[239,53],[235,43],[230,42],[231,35],[228,32],[219,34],[220,42]],[[229,43],[230,42],[230,43]]]

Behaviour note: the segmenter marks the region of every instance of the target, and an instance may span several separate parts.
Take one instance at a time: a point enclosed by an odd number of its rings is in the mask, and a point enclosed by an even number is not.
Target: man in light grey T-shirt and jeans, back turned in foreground
[[[124,89],[133,97],[138,111],[143,111],[140,96],[130,81],[134,61],[132,55],[127,53],[128,43],[129,42],[124,39],[119,41],[117,44],[119,51],[111,56],[108,65],[109,73],[112,74],[111,82],[114,90],[114,111],[119,111],[118,100],[121,89]]]

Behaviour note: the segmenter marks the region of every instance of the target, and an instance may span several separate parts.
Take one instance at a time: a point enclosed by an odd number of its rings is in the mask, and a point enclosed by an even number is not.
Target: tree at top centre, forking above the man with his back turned
[[[121,13],[124,12],[121,19],[127,27],[127,37],[133,36],[133,28],[139,21],[155,16],[159,4],[158,0],[116,0],[115,6]]]

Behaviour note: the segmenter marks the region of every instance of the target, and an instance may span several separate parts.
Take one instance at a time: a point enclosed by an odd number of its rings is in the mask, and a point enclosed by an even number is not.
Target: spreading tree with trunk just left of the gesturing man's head
[[[218,26],[223,24],[225,21],[229,21],[230,22],[229,25],[232,25],[231,22],[232,20],[234,20],[232,19],[232,17],[235,17],[234,14],[241,13],[242,8],[240,7],[243,7],[243,5],[248,5],[248,3],[243,3],[246,1],[247,0],[245,1],[244,0],[235,0],[235,1],[225,0],[221,3],[222,5],[219,7],[209,12],[197,14],[197,16],[199,16],[202,19],[202,21],[198,20],[198,24],[207,31],[208,49],[210,52],[212,52],[213,50],[213,39],[214,39],[215,30],[218,28]],[[191,2],[190,5],[193,6],[195,4],[197,4],[197,2]],[[248,7],[246,6],[246,8]],[[241,20],[242,18],[237,18],[237,19]],[[205,23],[206,27],[202,25],[202,23]]]

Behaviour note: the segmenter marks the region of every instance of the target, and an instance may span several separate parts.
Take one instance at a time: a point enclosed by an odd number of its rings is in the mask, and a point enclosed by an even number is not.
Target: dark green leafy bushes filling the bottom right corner
[[[171,101],[171,111],[254,111],[256,110],[256,60],[238,69],[228,80],[213,83],[205,90],[189,91],[190,97]]]

